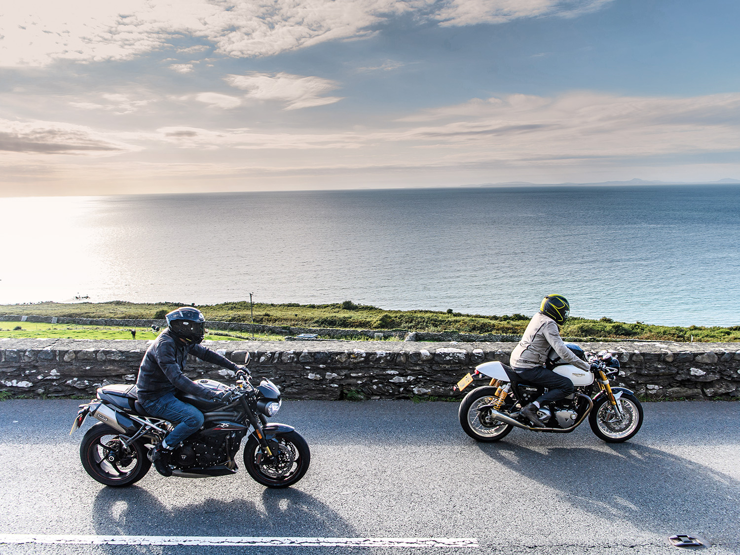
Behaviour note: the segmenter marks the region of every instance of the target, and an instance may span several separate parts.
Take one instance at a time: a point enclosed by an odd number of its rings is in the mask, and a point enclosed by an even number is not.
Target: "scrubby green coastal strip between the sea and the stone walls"
[[[36,303],[0,305],[0,314],[119,319],[141,318],[151,320],[164,318],[164,314],[178,306],[184,305],[182,303],[128,303],[121,300],[115,300],[109,303]],[[250,321],[249,301],[198,306],[198,309],[203,311],[206,320],[221,322]],[[395,329],[412,332],[460,332],[475,334],[522,334],[531,317],[531,314],[505,314],[502,316],[462,314],[455,312],[454,309],[448,309],[443,312],[429,310],[384,310],[376,306],[357,305],[351,302],[351,300],[345,300],[342,303],[319,305],[255,303],[253,312],[255,323],[271,326]],[[10,327],[12,329],[17,324],[0,322],[0,327]],[[26,323],[24,322],[23,324],[25,325]],[[58,329],[66,329],[68,326],[56,327]],[[125,332],[121,332],[121,334],[125,336]],[[609,317],[602,317],[599,320],[571,317],[562,326],[561,334],[563,337],[580,338],[598,337],[605,339],[740,342],[740,326],[661,326],[659,324],[642,322],[616,322]],[[136,337],[137,339],[139,338],[138,333]],[[125,337],[112,338],[123,339]],[[130,339],[130,334],[128,338]],[[224,339],[223,336],[214,338]]]

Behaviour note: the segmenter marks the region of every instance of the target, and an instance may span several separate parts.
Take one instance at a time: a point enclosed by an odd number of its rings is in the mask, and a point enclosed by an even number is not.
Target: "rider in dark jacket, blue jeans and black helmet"
[[[188,354],[217,364],[229,370],[243,370],[246,366],[232,363],[200,343],[206,334],[203,313],[191,306],[182,306],[165,316],[167,329],[149,345],[139,366],[136,378],[136,397],[147,414],[164,418],[175,425],[161,443],[149,452],[149,460],[163,476],[172,476],[169,458],[172,450],[203,425],[203,413],[189,403],[175,397],[175,389],[215,402],[227,400],[229,391],[215,392],[193,382],[184,374]]]

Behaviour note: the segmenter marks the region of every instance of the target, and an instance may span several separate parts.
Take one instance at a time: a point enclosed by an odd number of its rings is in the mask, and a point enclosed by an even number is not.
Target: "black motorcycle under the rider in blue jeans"
[[[247,363],[249,359],[247,360]],[[268,422],[280,409],[280,390],[270,380],[253,387],[245,371],[236,373],[235,387],[215,380],[196,383],[228,391],[221,401],[203,400],[178,391],[175,396],[203,412],[203,427],[172,451],[172,476],[203,478],[226,476],[238,470],[236,454],[249,429],[243,459],[246,471],[268,488],[286,488],[309,469],[311,452],[306,440],[286,424]],[[132,485],[147,474],[148,452],[172,431],[167,420],[149,416],[136,400],[136,386],[98,388],[97,397],[80,405],[70,435],[87,414],[100,420],[82,439],[80,459],[92,478],[105,485]]]

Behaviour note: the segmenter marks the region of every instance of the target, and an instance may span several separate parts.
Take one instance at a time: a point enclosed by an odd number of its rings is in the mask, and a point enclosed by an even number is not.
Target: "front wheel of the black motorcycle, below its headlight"
[[[275,434],[278,445],[277,465],[261,461],[263,457],[260,443],[252,435],[244,446],[244,467],[249,476],[268,488],[287,488],[303,478],[311,463],[309,444],[297,431]]]

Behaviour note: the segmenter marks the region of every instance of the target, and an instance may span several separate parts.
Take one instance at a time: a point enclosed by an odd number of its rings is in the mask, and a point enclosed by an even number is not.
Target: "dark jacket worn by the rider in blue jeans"
[[[141,360],[136,378],[136,395],[139,402],[174,393],[175,388],[203,399],[214,399],[214,392],[211,389],[193,382],[184,374],[188,354],[229,370],[237,368],[235,363],[221,354],[202,345],[186,345],[166,330],[149,345]]]

